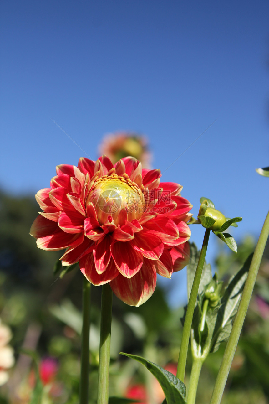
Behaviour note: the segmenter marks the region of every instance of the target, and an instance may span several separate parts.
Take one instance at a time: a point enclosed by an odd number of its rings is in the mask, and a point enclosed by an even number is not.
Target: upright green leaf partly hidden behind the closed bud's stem
[[[190,263],[187,265],[188,298],[190,297],[190,291],[192,290],[192,284],[199,257],[200,257],[200,250],[199,251],[197,250],[195,243],[190,243]],[[209,282],[211,282],[211,280],[212,280],[211,265],[206,264],[206,261],[204,261],[204,267],[202,271],[198,294],[201,294],[203,292],[204,286],[208,285]]]

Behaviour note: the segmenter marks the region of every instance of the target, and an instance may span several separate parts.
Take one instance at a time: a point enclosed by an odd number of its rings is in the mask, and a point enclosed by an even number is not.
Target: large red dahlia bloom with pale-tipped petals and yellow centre
[[[110,282],[119,299],[139,306],[154,292],[156,274],[170,278],[189,256],[190,202],[160,170],[133,157],[114,166],[102,156],[56,167],[50,188],[36,194],[43,212],[30,234],[43,250],[67,250],[63,265],[79,262],[94,285]]]

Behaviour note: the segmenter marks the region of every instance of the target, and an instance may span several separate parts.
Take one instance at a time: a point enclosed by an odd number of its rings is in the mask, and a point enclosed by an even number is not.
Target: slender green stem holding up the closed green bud
[[[202,249],[200,252],[200,257],[198,260],[198,264],[197,264],[197,268],[196,268],[196,272],[195,272],[195,276],[194,276],[194,280],[193,280],[193,284],[192,284],[192,290],[190,292],[190,298],[189,298],[189,302],[188,302],[186,317],[184,320],[182,339],[181,339],[181,344],[180,344],[180,349],[179,349],[179,358],[178,358],[178,363],[177,363],[177,378],[183,382],[184,382],[184,377],[185,377],[188,345],[189,345],[189,340],[190,340],[190,330],[192,327],[192,317],[193,317],[194,307],[195,307],[196,299],[197,299],[197,295],[198,295],[198,289],[199,289],[200,279],[202,276],[202,270],[204,267],[204,259],[206,256],[206,250],[207,250],[210,231],[211,231],[210,229],[206,229],[205,234],[204,234]]]

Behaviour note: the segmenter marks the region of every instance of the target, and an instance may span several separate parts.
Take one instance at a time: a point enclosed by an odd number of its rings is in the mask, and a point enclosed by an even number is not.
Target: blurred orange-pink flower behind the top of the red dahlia
[[[143,167],[150,168],[151,154],[144,136],[132,132],[115,132],[106,135],[99,146],[100,154],[105,154],[115,164],[121,158],[133,156]]]

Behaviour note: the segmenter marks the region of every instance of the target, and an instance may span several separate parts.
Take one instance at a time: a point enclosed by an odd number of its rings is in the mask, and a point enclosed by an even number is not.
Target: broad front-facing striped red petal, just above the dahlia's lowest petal
[[[126,278],[134,276],[142,267],[143,255],[134,250],[130,243],[115,242],[110,249],[117,268]]]

